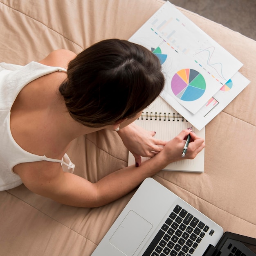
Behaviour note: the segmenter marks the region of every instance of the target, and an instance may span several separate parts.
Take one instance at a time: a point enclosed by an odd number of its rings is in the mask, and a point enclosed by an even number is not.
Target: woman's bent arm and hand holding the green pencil
[[[57,163],[37,162],[40,165],[58,165],[51,172],[42,172],[41,168],[18,169],[22,181],[28,189],[39,195],[51,198],[57,202],[76,207],[99,207],[108,204],[135,189],[146,177],[151,177],[167,164],[181,160],[184,138],[189,130],[168,141],[164,148],[154,157],[141,163],[136,168],[128,166],[110,173],[96,183],[91,183],[77,175],[64,173]],[[191,134],[191,143],[185,158],[193,159],[203,148],[204,140]],[[31,167],[36,163],[29,163]],[[26,164],[25,164],[26,165]],[[55,166],[56,167],[56,166]]]

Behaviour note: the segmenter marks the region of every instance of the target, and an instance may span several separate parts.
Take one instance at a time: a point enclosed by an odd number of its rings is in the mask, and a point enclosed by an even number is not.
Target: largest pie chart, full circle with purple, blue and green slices
[[[183,101],[195,101],[205,92],[206,83],[202,74],[189,68],[175,73],[171,80],[171,89],[175,96]]]

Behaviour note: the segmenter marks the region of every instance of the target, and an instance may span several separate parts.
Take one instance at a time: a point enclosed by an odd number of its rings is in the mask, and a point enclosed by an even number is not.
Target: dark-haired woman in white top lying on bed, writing
[[[57,50],[24,67],[3,63],[0,79],[0,190],[24,183],[63,204],[98,207],[180,160],[189,133],[186,158],[204,148],[189,130],[166,142],[132,124],[162,91],[164,76],[154,54],[125,40],[101,41],[78,56]],[[72,173],[66,151],[76,137],[103,129],[119,133],[136,166],[91,183]],[[152,158],[141,163],[140,156]]]

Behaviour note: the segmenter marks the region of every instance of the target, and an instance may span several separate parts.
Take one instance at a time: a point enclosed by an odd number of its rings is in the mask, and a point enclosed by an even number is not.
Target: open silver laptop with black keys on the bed
[[[256,256],[256,239],[225,232],[153,178],[139,186],[92,256]]]

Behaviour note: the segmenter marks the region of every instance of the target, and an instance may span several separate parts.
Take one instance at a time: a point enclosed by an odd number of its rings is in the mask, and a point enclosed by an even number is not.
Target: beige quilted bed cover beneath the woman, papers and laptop
[[[55,49],[128,39],[161,0],[0,0],[0,62],[24,65]],[[154,178],[225,231],[256,238],[256,42],[180,9],[238,58],[251,83],[206,126],[204,173],[161,171]],[[107,138],[106,138],[107,137]],[[74,140],[75,173],[95,182],[127,165],[116,132]],[[95,156],[97,155],[97,158]],[[97,169],[97,171],[92,171]],[[68,207],[28,191],[0,192],[0,255],[90,255],[134,192],[95,209]]]

